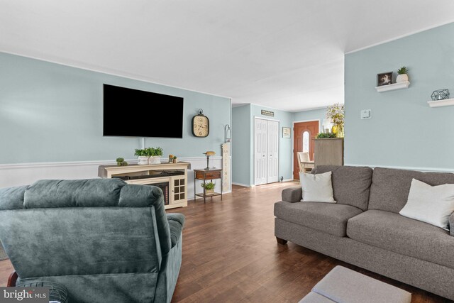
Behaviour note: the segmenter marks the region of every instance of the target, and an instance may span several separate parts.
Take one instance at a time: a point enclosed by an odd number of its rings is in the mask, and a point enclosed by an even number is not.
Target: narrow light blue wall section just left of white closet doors
[[[250,185],[250,104],[232,108],[232,182]]]

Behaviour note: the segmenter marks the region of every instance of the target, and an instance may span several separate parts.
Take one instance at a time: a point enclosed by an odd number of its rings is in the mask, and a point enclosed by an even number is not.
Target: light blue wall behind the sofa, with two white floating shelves
[[[345,164],[454,170],[454,23],[345,55]],[[376,75],[409,67],[409,89],[378,93]],[[361,120],[360,110],[372,109]]]

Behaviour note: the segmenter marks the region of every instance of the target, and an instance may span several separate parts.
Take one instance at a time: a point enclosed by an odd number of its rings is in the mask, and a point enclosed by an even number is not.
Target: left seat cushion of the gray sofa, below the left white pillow
[[[275,203],[277,218],[339,237],[345,236],[348,219],[361,213],[361,209],[344,204],[287,201]]]

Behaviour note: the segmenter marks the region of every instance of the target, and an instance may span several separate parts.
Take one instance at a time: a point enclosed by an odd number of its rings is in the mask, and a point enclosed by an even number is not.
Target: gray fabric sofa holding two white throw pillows
[[[300,246],[454,299],[454,214],[450,231],[399,215],[411,180],[454,183],[454,174],[319,166],[332,172],[336,204],[300,202],[301,187],[275,204],[277,242]]]

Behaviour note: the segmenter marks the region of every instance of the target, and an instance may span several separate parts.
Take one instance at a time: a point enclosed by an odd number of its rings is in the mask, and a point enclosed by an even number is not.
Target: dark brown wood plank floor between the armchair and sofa
[[[186,215],[183,260],[172,302],[298,302],[336,265],[413,294],[411,302],[449,302],[293,243],[277,244],[273,204],[292,183],[233,187],[223,201],[202,199],[170,210]],[[0,286],[11,272],[0,262]]]

